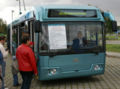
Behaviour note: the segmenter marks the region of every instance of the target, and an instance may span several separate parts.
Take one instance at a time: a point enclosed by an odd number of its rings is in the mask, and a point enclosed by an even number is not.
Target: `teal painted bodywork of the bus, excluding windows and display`
[[[84,10],[96,10],[96,18],[48,18],[48,9],[84,9]],[[33,15],[32,15],[33,14]],[[101,11],[96,7],[91,6],[39,6],[35,7],[33,11],[28,12],[22,17],[12,22],[14,27],[19,26],[17,31],[21,26],[21,23],[29,20],[38,20],[40,23],[58,23],[58,22],[104,22],[104,17],[102,16]],[[34,23],[33,23],[34,25]],[[10,28],[10,25],[9,25]],[[34,27],[33,27],[34,28]],[[104,26],[103,36],[105,35]],[[34,29],[35,30],[35,29]],[[10,32],[9,32],[10,33]],[[60,78],[70,78],[70,77],[80,77],[80,76],[92,76],[103,74],[105,70],[105,48],[104,50],[99,51],[98,53],[80,53],[80,54],[66,54],[66,55],[55,55],[55,56],[42,56],[40,55],[40,34],[35,33],[34,36],[34,52],[35,56],[38,59],[37,68],[39,80],[51,80],[51,79],[60,79]],[[42,34],[42,33],[41,33]],[[20,35],[20,34],[19,34]],[[21,36],[21,35],[20,35]],[[19,37],[20,37],[19,36]],[[22,37],[22,36],[21,36]],[[105,46],[105,37],[104,46]],[[9,42],[10,44],[10,42]],[[16,47],[13,46],[13,50],[16,50]]]

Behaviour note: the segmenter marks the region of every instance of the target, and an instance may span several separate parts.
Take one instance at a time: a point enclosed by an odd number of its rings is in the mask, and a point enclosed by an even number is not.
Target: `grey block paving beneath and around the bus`
[[[9,89],[20,89],[12,86],[10,64],[11,60],[7,60],[6,84]],[[19,81],[22,81],[20,76]],[[107,57],[104,75],[47,82],[33,80],[31,89],[120,89],[120,59]]]

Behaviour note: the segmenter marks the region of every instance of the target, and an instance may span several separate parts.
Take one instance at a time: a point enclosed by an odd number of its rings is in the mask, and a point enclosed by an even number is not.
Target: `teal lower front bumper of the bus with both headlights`
[[[39,80],[53,80],[100,74],[104,74],[104,64],[93,64],[88,70],[62,71],[60,67],[41,68],[38,76]]]

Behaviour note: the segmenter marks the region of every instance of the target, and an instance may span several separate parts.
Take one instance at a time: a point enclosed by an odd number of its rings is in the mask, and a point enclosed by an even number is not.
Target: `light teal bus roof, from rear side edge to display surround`
[[[89,17],[85,18],[83,15],[87,12],[82,12],[81,15],[83,17],[48,17],[49,10],[94,10],[96,11],[96,17]],[[54,11],[53,11],[54,12]],[[69,11],[68,11],[69,12]],[[67,12],[67,14],[68,14]],[[80,11],[81,12],[81,11]],[[69,12],[69,14],[73,14],[74,11]],[[93,12],[89,12],[93,13]],[[65,15],[66,13],[64,13]],[[78,11],[74,13],[75,14],[80,14]],[[13,21],[13,25],[21,23],[25,20],[35,18],[36,20],[40,20],[41,22],[43,21],[104,21],[103,16],[100,12],[100,10],[96,7],[93,6],[76,6],[76,5],[44,5],[44,6],[35,6],[34,9],[25,15],[21,16],[19,19]]]

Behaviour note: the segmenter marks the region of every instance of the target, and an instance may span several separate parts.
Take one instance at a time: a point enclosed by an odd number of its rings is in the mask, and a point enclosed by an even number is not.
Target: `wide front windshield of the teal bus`
[[[103,50],[101,22],[43,23],[40,53],[79,53]]]

